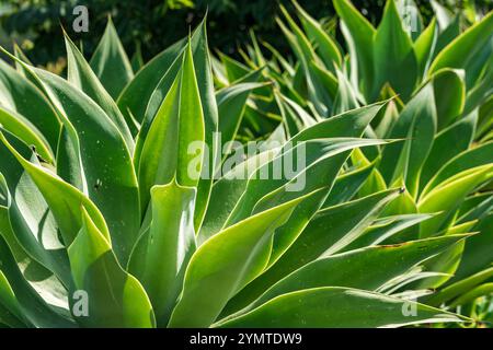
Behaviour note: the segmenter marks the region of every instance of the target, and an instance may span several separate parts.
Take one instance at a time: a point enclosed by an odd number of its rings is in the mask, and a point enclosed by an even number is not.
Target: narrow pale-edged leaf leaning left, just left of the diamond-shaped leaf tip
[[[85,61],[83,55],[79,51],[67,33],[64,34],[68,60],[67,80],[72,85],[84,92],[104,110],[104,113],[118,128],[118,131],[122,133],[122,137],[124,138],[130,153],[133,153],[134,139],[124,116],[118,109],[118,106],[103,88],[103,84],[92,71],[91,66],[89,66]],[[114,65],[114,62],[111,63]]]

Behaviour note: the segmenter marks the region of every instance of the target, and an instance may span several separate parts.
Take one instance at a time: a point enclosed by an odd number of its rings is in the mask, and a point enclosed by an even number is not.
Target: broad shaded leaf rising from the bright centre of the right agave
[[[390,138],[405,140],[388,144],[382,151],[379,171],[387,184],[403,177],[411,196],[417,195],[420,174],[433,145],[436,120],[433,86],[427,84],[406,104],[390,132]]]

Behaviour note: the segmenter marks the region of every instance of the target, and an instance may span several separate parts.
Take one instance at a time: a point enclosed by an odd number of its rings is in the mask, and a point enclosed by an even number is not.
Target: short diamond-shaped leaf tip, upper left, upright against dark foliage
[[[108,94],[116,100],[134,78],[130,61],[118,38],[111,18],[103,37],[91,58],[91,68]]]

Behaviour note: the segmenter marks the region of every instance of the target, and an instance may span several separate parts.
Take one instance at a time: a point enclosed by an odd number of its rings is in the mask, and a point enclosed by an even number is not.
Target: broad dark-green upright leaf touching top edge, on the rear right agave
[[[374,96],[389,82],[402,100],[408,101],[416,84],[419,67],[412,39],[404,30],[394,0],[387,1],[383,18],[374,36],[372,49]]]

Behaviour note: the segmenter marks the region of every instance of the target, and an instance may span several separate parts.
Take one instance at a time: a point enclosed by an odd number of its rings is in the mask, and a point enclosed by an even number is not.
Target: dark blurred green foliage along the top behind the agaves
[[[472,0],[440,0],[451,11],[468,5]],[[83,50],[91,54],[106,25],[113,18],[122,42],[129,56],[141,49],[147,60],[176,39],[185,36],[208,12],[209,44],[228,55],[238,56],[238,46],[250,40],[253,30],[263,40],[272,43],[280,52],[288,52],[275,23],[279,3],[293,11],[289,0],[2,0],[0,3],[0,44],[16,42],[36,65],[59,62],[65,56],[60,37],[60,24],[76,40],[83,42]],[[334,14],[331,0],[300,0],[299,3],[314,18],[325,19]],[[372,22],[378,23],[383,0],[354,0],[353,3]],[[427,0],[417,0],[424,22],[433,11]],[[491,0],[477,0],[479,12],[491,9]],[[89,32],[74,33],[72,13],[77,5],[89,10]],[[34,49],[34,47],[36,49]]]

